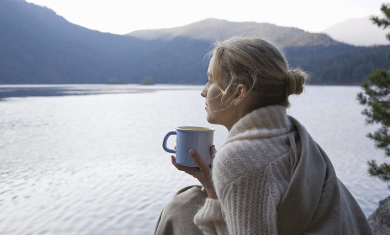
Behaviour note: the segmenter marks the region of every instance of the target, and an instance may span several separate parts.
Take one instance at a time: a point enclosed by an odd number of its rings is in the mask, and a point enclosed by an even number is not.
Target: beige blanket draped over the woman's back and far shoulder
[[[279,234],[373,234],[326,153],[296,119],[289,119],[298,134],[289,135],[292,178],[277,207]]]

